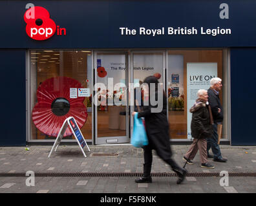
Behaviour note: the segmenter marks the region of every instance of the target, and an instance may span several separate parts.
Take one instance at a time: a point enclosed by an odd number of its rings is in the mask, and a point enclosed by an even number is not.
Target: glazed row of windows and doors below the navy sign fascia
[[[79,90],[81,87],[88,91],[83,100],[83,105],[87,109],[87,119],[81,131],[85,138],[89,141],[94,139],[96,144],[130,142],[130,136],[133,133],[133,118],[130,113],[136,106],[131,104],[131,93],[149,75],[157,74],[160,77],[159,82],[165,88],[168,97],[169,132],[172,140],[191,139],[189,106],[193,105],[193,100],[196,98],[195,93],[199,83],[195,82],[198,78],[202,78],[200,75],[204,76],[204,81],[200,86],[205,89],[208,89],[207,82],[209,83],[211,77],[218,76],[223,79],[224,88],[220,97],[229,95],[226,89],[228,69],[225,67],[228,61],[228,50],[225,49],[30,50],[28,56],[30,64],[28,84],[30,86],[28,86],[27,93],[30,94],[31,100],[28,117],[32,117],[28,126],[30,126],[29,136],[32,142],[50,141],[56,138],[54,136],[58,135],[58,129],[52,126],[54,118],[56,115],[65,117],[66,114],[63,111],[65,106],[62,109],[58,108],[57,103],[54,106],[54,101],[56,99],[61,101],[59,98],[64,96],[67,104],[70,104],[69,108],[72,108],[73,99],[80,97],[80,91],[75,91],[78,95],[74,98],[70,97],[72,95],[70,88]],[[65,95],[51,97],[54,87],[58,93],[61,93],[58,90],[61,88],[59,84],[61,84],[60,81],[64,84],[65,79],[59,79],[60,77],[75,79],[81,85],[72,86],[73,84],[69,82],[71,85],[67,85],[67,97]],[[47,84],[52,87],[48,88]],[[41,89],[39,93],[37,90],[42,87],[45,89]],[[37,95],[44,95],[49,101],[51,108],[46,109],[45,113],[42,108],[34,109],[41,100],[41,97]],[[93,101],[96,95],[100,100],[98,105]],[[228,100],[227,98],[221,98],[221,100],[226,111],[222,138],[228,140]],[[54,107],[56,109],[52,109]],[[58,113],[58,110],[63,113]],[[68,112],[70,113],[66,111]],[[76,115],[75,112],[71,112],[70,115]],[[78,115],[77,118],[82,117]],[[59,127],[62,123],[63,120],[58,122]],[[54,132],[51,130],[52,127],[56,129]],[[70,134],[66,140],[72,138]]]

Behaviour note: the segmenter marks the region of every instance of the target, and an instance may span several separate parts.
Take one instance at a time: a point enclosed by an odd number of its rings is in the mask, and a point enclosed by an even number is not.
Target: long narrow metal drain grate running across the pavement
[[[40,177],[122,177],[122,176],[142,176],[143,173],[35,173],[35,176]],[[229,176],[240,177],[256,177],[256,173],[228,173]],[[0,176],[26,176],[25,173],[0,173]],[[175,173],[151,173],[151,176],[155,177],[171,177],[176,176]],[[217,177],[219,173],[187,173],[187,176],[193,177]]]

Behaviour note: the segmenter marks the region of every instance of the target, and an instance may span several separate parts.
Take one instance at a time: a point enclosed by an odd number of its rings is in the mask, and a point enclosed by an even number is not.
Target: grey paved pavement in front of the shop
[[[60,145],[48,158],[52,146],[0,147],[0,193],[252,193],[256,192],[256,146],[220,145],[228,162],[213,162],[215,169],[186,165],[186,180],[176,176],[154,151],[152,183],[135,183],[143,172],[143,150],[130,144]],[[182,156],[189,145],[171,145],[173,158],[184,165]]]

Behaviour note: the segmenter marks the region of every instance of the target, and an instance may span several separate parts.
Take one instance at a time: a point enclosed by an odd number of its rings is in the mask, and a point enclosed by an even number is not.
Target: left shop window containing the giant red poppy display
[[[90,51],[30,51],[30,140],[54,140],[67,115],[92,139],[91,76]]]

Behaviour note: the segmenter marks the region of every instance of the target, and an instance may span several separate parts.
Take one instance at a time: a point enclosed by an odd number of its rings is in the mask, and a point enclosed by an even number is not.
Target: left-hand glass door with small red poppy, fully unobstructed
[[[96,144],[130,142],[128,54],[94,53],[94,114]]]

